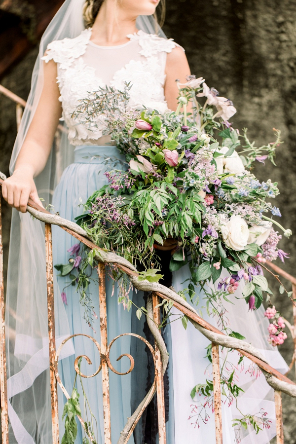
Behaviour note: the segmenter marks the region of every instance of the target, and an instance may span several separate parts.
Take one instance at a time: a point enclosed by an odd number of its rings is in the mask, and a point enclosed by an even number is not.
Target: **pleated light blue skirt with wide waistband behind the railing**
[[[80,215],[84,208],[81,203],[86,202],[87,198],[97,189],[107,184],[107,179],[104,173],[111,169],[126,169],[124,156],[119,153],[117,148],[113,146],[80,146],[74,150],[74,163],[69,165],[63,172],[61,181],[56,187],[53,196],[53,207],[55,212],[59,212],[63,218],[74,221]],[[66,264],[70,258],[67,252],[77,240],[61,230],[58,227],[53,227],[53,259],[54,264]],[[93,309],[93,323],[91,327],[83,319],[84,308],[79,303],[79,294],[76,292],[76,286],[69,285],[69,276],[60,277],[57,274],[58,288],[55,290],[56,297],[64,291],[67,296],[67,303],[65,309],[67,319],[65,322],[69,323],[70,333],[84,333],[94,337],[100,343],[100,322],[99,322],[99,290],[96,270],[91,274],[91,281],[87,293],[91,298]],[[58,295],[58,296],[57,296]],[[135,315],[136,307],[130,311],[124,309],[122,304],[118,304],[118,287],[113,288],[113,281],[108,276],[106,278],[106,297],[107,297],[107,317],[108,317],[108,342],[122,334],[122,333],[137,333],[145,336],[148,332],[145,323],[145,317],[142,316],[139,321]],[[142,292],[134,292],[130,294],[130,298],[134,300],[138,307],[145,305],[145,298]],[[98,317],[98,319],[96,319]],[[164,332],[168,348],[170,345],[169,327]],[[148,338],[152,342],[152,338]],[[153,344],[153,342],[152,342]],[[74,386],[75,357],[86,355],[92,362],[91,365],[86,364],[82,359],[81,372],[87,375],[93,374],[100,365],[99,351],[94,343],[84,336],[76,336],[73,339],[75,353],[70,358],[62,359],[59,363],[59,372],[63,384],[68,393],[72,392]],[[111,437],[112,443],[116,443],[119,439],[120,432],[124,428],[127,419],[135,408],[140,404],[145,397],[153,380],[154,374],[151,365],[151,360],[148,356],[148,351],[145,344],[139,339],[130,336],[123,336],[117,339],[111,348],[111,363],[113,367],[122,373],[126,372],[130,367],[129,359],[123,357],[120,361],[116,359],[126,353],[131,353],[135,359],[135,368],[132,373],[119,376],[114,374],[111,370],[110,375],[110,404],[111,404]],[[170,382],[172,382],[172,366],[169,367]],[[77,377],[77,379],[79,379]],[[97,420],[97,424],[93,419],[93,430],[98,436],[98,444],[104,444],[104,423],[103,423],[103,398],[102,398],[102,379],[101,374],[97,376],[83,379],[83,389],[87,396],[89,406],[92,413]],[[83,408],[83,390],[81,384],[76,381],[76,388],[80,394],[80,405],[82,410],[82,417],[91,421],[91,417],[86,417],[86,411]],[[167,392],[170,391],[171,399],[169,401],[169,393],[167,393],[167,410],[171,409],[171,413],[167,414],[167,433],[169,443],[174,442],[174,428],[173,428],[173,385],[169,384]],[[59,392],[59,415],[60,415],[60,436],[63,435],[65,427],[61,421],[63,405],[66,399],[62,392]],[[154,402],[155,405],[155,402]],[[130,443],[142,444],[144,443],[144,424],[145,421],[140,420],[135,432],[134,438],[130,439]],[[97,432],[97,433],[96,433]],[[80,424],[78,424],[78,443],[82,443],[83,431]],[[134,441],[135,440],[135,441]]]

